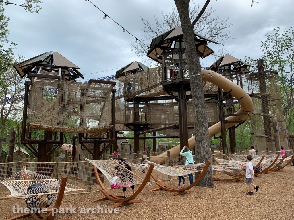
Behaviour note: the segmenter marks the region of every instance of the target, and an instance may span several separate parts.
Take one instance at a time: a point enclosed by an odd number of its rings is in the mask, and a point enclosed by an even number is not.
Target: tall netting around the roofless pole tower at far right
[[[253,114],[250,116],[252,142],[258,151],[275,150],[273,135],[273,118],[278,119],[278,126],[285,121],[282,108],[282,97],[278,84],[278,76],[260,74],[251,77],[248,90],[253,101]],[[280,144],[284,138],[280,134]]]

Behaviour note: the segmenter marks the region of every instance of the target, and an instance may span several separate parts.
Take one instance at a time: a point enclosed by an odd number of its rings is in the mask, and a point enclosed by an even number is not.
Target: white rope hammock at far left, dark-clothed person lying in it
[[[51,177],[23,170],[6,177],[0,181],[5,185],[10,195],[7,197],[21,197],[30,210],[48,208],[56,199],[59,192],[60,181]],[[64,192],[84,190],[66,183]]]

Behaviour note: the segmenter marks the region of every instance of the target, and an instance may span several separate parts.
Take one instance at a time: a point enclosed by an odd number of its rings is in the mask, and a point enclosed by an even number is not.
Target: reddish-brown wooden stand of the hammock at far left
[[[23,166],[23,168],[25,169],[26,166]],[[25,178],[25,180],[27,180],[26,175],[24,175],[24,178]],[[61,183],[60,183],[57,199],[56,199],[55,204],[54,204],[54,209],[56,208],[58,210],[59,207],[60,207],[61,201],[62,201],[63,196],[64,196],[64,190],[65,190],[65,186],[66,186],[66,181],[67,181],[67,176],[63,175],[61,177]],[[43,212],[45,212],[45,211],[43,211]],[[46,209],[46,212],[49,213],[48,216],[41,213],[41,211],[38,211],[37,214],[34,213],[33,211],[30,211],[29,214],[21,214],[19,216],[12,217],[12,218],[10,218],[8,220],[23,219],[23,218],[30,217],[30,216],[34,220],[54,220],[56,218],[57,213],[54,215],[52,213],[52,209]],[[74,219],[60,219],[60,220],[74,220]]]

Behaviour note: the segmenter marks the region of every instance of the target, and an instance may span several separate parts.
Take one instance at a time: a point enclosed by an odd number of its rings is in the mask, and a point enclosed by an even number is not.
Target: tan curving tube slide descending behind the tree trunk
[[[230,93],[235,99],[237,99],[241,105],[241,108],[239,111],[237,111],[235,114],[240,113],[246,113],[246,115],[239,115],[239,116],[229,116],[225,118],[225,120],[228,121],[244,121],[247,119],[253,112],[253,102],[251,101],[251,98],[249,95],[237,84],[233,83],[226,77],[223,77],[222,75],[213,72],[211,70],[201,70],[201,74],[204,75],[202,78],[202,81],[211,82],[215,84],[216,86],[220,87],[224,91]],[[208,76],[208,74],[213,75]],[[225,128],[228,129],[232,126],[234,126],[235,123],[227,123],[225,124]],[[214,124],[209,129],[209,138],[212,138],[213,136],[220,133],[220,122]],[[193,149],[195,146],[195,138],[189,138],[189,149]],[[181,152],[180,145],[176,145],[175,147],[171,148],[170,150],[171,156],[178,156]],[[164,152],[157,156],[151,156],[151,161],[158,164],[166,163],[166,156],[167,152]]]

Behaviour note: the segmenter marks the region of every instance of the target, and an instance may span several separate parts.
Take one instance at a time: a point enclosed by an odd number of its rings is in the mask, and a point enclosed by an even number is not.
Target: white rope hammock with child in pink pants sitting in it
[[[141,185],[146,171],[146,166],[129,163],[121,160],[88,160],[99,169],[111,185],[117,185],[114,179],[118,177],[118,185]],[[147,183],[151,185],[150,183]],[[129,187],[129,186],[124,186]]]

